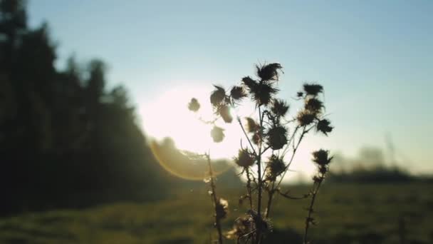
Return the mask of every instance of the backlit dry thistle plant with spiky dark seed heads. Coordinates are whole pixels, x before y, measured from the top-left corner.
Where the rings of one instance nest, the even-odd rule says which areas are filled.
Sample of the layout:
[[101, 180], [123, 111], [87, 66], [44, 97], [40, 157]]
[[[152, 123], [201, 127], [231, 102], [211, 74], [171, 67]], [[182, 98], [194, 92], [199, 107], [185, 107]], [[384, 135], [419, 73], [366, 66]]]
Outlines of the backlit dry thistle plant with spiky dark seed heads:
[[[224, 235], [237, 243], [264, 243], [272, 232], [271, 209], [276, 196], [290, 200], [311, 198], [306, 214], [304, 243], [308, 243], [308, 230], [315, 223], [313, 206], [320, 185], [329, 170], [332, 157], [323, 149], [313, 152], [313, 162], [318, 172], [313, 177], [313, 187], [309, 193], [293, 196], [283, 190], [281, 183], [286, 176], [299, 146], [308, 133], [328, 133], [333, 131], [328, 118], [325, 118], [325, 106], [321, 101], [323, 86], [317, 83], [304, 83], [302, 91], [296, 93], [296, 101], [303, 107], [295, 115], [289, 116], [289, 104], [277, 98], [279, 76], [282, 72], [280, 63], [268, 63], [256, 66], [256, 77], [246, 76], [241, 82], [226, 91], [222, 86], [214, 86], [210, 103], [214, 111], [210, 135], [215, 143], [224, 141], [224, 128], [216, 126], [221, 119], [224, 123], [239, 123], [244, 134], [234, 163], [239, 167], [246, 180], [246, 193], [239, 198], [239, 204], [248, 203], [248, 210], [236, 218], [234, 228]], [[234, 118], [232, 111], [242, 106], [244, 100], [254, 103], [254, 116]], [[199, 101], [192, 98], [188, 104], [190, 111], [198, 112]], [[218, 230], [218, 242], [223, 242], [220, 220], [226, 216], [228, 203], [216, 197], [214, 176], [209, 153], [207, 153], [210, 175], [210, 192], [214, 203], [215, 227]]]

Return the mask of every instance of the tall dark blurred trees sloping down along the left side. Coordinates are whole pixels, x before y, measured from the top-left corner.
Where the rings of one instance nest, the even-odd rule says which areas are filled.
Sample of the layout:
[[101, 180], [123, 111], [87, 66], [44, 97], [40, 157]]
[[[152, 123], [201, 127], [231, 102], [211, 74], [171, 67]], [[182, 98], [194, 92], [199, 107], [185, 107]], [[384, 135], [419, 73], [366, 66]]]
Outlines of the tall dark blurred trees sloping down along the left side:
[[161, 174], [127, 91], [106, 66], [54, 66], [48, 25], [28, 29], [26, 1], [0, 0], [0, 214], [145, 200]]

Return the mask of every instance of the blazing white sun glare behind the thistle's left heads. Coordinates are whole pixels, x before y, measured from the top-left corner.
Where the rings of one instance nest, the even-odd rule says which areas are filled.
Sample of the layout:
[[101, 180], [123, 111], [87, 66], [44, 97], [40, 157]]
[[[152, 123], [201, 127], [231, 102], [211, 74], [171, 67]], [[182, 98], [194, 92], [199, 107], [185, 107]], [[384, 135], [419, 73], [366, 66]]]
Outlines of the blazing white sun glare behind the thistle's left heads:
[[[197, 98], [200, 110], [188, 110], [191, 98]], [[205, 88], [173, 88], [151, 103], [142, 106], [142, 125], [145, 133], [162, 140], [172, 138], [177, 148], [194, 153], [207, 153], [211, 158], [233, 158], [239, 148], [242, 134], [236, 121], [227, 124], [216, 121], [224, 128], [226, 137], [221, 143], [214, 143], [210, 136], [212, 125], [204, 120], [212, 120], [214, 114], [209, 103], [209, 91]], [[237, 126], [237, 127], [236, 127]]]

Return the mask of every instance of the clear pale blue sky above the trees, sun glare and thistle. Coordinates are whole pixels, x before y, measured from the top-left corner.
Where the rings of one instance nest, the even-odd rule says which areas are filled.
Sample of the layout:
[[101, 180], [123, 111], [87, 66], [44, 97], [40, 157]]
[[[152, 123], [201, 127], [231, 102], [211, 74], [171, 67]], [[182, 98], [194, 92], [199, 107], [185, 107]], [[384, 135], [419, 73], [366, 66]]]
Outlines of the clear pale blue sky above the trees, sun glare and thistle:
[[[283, 65], [281, 98], [303, 82], [325, 88], [335, 130], [310, 148], [356, 156], [385, 151], [433, 172], [433, 1], [30, 0], [31, 26], [48, 21], [57, 66], [68, 56], [108, 63], [146, 130], [146, 109], [167, 89], [229, 87], [254, 64]], [[183, 90], [182, 90], [183, 89]], [[295, 103], [293, 101], [293, 103]], [[403, 160], [404, 159], [404, 160]]]

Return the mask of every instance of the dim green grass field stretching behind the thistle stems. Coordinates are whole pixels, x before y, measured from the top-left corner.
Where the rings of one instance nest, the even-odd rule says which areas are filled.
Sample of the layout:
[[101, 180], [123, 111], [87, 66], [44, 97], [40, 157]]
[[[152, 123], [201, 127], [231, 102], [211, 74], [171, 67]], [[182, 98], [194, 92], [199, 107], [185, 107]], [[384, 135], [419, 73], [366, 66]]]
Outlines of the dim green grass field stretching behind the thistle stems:
[[[293, 195], [307, 189], [292, 188]], [[236, 197], [242, 190], [218, 190], [231, 204], [223, 223], [229, 230], [234, 218], [244, 213]], [[306, 205], [305, 200], [277, 198], [268, 243], [300, 243]], [[400, 238], [406, 243], [433, 243], [431, 184], [325, 184], [315, 210], [313, 243], [400, 243]], [[215, 237], [204, 184], [155, 203], [23, 213], [0, 220], [0, 243], [210, 243]]]

